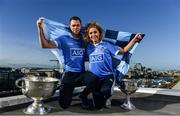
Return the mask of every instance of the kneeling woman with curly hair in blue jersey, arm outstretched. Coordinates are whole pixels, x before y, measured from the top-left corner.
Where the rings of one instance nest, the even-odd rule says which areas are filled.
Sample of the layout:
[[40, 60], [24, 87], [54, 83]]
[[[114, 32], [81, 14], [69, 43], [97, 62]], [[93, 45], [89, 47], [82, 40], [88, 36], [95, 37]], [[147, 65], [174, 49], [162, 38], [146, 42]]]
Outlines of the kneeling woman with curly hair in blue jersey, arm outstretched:
[[127, 52], [138, 39], [140, 33], [124, 48], [115, 46], [103, 41], [103, 30], [96, 22], [88, 23], [85, 30], [85, 40], [87, 45], [87, 56], [89, 58], [89, 71], [96, 80], [95, 91], [93, 92], [94, 104], [97, 109], [105, 106], [106, 100], [111, 96], [111, 88], [114, 82], [112, 56]]

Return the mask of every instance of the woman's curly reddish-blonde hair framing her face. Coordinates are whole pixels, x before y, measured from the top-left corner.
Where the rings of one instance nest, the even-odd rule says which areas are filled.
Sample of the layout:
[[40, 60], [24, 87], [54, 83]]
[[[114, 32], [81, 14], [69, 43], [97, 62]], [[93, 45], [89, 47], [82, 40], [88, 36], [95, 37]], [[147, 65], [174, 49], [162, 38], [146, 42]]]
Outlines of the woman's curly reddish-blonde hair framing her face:
[[88, 24], [86, 25], [86, 27], [85, 27], [85, 33], [84, 33], [84, 40], [85, 40], [86, 42], [90, 42], [90, 41], [91, 41], [90, 38], [89, 38], [89, 30], [90, 30], [91, 28], [96, 28], [96, 29], [99, 31], [99, 33], [100, 33], [99, 39], [100, 39], [100, 41], [101, 41], [102, 38], [103, 38], [103, 29], [101, 28], [101, 26], [100, 26], [97, 22], [88, 23]]

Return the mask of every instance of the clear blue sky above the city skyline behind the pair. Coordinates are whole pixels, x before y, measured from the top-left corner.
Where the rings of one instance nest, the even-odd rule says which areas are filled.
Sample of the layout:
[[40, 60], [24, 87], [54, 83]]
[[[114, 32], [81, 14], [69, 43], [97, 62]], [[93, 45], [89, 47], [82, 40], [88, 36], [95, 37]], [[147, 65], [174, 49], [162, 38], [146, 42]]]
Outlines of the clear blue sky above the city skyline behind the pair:
[[97, 21], [104, 29], [146, 34], [131, 63], [153, 70], [180, 70], [179, 0], [0, 0], [0, 65], [50, 64], [40, 48], [38, 17], [68, 24]]

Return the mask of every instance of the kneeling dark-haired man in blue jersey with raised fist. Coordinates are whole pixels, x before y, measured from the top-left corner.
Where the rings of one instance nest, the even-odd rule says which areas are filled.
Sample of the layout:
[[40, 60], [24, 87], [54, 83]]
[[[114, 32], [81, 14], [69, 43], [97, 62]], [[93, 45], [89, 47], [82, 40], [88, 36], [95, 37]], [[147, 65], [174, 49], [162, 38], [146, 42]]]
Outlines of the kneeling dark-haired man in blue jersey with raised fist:
[[69, 30], [72, 36], [64, 35], [49, 40], [43, 32], [43, 18], [37, 21], [39, 42], [42, 48], [61, 49], [64, 56], [64, 74], [61, 81], [59, 104], [63, 109], [70, 106], [72, 93], [83, 81], [84, 72], [84, 42], [81, 35], [81, 19], [73, 16], [69, 20]]

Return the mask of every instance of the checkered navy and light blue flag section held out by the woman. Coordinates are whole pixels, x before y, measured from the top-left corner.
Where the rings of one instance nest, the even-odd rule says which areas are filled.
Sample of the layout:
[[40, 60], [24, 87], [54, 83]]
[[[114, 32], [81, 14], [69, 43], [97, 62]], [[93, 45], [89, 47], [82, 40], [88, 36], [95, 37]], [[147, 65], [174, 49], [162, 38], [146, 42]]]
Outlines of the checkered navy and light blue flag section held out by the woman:
[[[114, 31], [114, 30], [106, 30], [105, 31], [105, 40], [115, 45], [123, 48], [125, 47], [131, 39], [135, 37], [136, 34], [130, 32], [123, 32], [123, 31]], [[141, 35], [142, 38], [145, 36], [144, 34]], [[137, 41], [131, 49], [124, 53], [123, 55], [116, 55], [113, 59], [113, 67], [115, 67], [115, 77], [116, 82], [119, 83], [121, 79], [128, 73], [129, 70], [129, 63], [134, 50], [137, 48], [138, 44], [141, 40]]]

